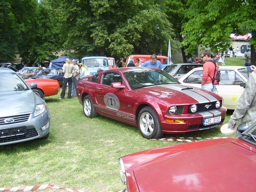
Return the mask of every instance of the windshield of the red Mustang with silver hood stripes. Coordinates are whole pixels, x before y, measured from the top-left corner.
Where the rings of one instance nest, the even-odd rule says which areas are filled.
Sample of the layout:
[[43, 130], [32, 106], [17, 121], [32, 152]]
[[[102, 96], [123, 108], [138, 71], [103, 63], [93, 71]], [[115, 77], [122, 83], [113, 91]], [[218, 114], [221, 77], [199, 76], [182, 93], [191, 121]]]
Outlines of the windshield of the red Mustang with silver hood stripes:
[[132, 89], [150, 87], [159, 84], [179, 83], [163, 70], [134, 70], [125, 72], [124, 75]]

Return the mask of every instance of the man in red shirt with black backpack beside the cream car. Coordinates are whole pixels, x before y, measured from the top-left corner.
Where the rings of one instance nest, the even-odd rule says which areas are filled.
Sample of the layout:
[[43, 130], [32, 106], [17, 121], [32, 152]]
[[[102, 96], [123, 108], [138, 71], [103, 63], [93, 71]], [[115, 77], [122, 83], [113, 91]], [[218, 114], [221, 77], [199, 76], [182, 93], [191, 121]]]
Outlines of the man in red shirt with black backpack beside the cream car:
[[[211, 58], [211, 52], [207, 50], [201, 52], [201, 58], [204, 61], [202, 89], [205, 89], [210, 92], [215, 92], [217, 81], [215, 80], [214, 83], [212, 83], [212, 78], [216, 76], [218, 72], [218, 64]], [[213, 62], [216, 63], [216, 67]]]

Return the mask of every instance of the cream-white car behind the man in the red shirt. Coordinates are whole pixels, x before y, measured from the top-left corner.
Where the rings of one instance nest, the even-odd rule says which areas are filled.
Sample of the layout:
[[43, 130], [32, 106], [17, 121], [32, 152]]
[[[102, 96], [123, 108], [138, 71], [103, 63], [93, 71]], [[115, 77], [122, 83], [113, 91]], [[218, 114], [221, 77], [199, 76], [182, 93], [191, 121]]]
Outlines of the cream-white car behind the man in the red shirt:
[[[224, 98], [223, 105], [227, 109], [235, 109], [244, 87], [240, 83], [247, 83], [249, 73], [243, 66], [219, 66], [221, 70], [221, 81], [216, 86], [216, 93]], [[179, 82], [201, 87], [203, 67], [194, 68], [185, 74]]]

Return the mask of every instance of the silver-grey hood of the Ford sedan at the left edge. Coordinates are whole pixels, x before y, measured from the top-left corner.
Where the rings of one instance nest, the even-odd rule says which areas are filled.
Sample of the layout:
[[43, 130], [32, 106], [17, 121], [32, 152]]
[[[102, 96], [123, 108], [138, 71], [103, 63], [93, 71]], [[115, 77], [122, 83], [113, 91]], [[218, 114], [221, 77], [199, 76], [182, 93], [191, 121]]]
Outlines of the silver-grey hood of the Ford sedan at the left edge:
[[0, 109], [4, 109], [0, 110], [0, 117], [16, 115], [18, 113], [34, 113], [36, 96], [31, 90], [0, 92], [0, 97]]

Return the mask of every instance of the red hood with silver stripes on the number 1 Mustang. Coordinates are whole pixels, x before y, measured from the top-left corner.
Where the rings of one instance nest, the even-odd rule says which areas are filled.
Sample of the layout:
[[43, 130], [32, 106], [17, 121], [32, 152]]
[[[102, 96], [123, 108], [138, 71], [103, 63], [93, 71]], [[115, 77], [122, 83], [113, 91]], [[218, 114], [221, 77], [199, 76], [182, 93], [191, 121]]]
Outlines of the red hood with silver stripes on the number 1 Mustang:
[[145, 94], [147, 96], [154, 96], [160, 100], [170, 102], [173, 98], [175, 104], [188, 103], [208, 103], [216, 100], [221, 100], [222, 97], [214, 94], [213, 92], [208, 92], [206, 90], [189, 87], [182, 84], [165, 84], [157, 85], [151, 87], [144, 87], [137, 89], [140, 94]]

